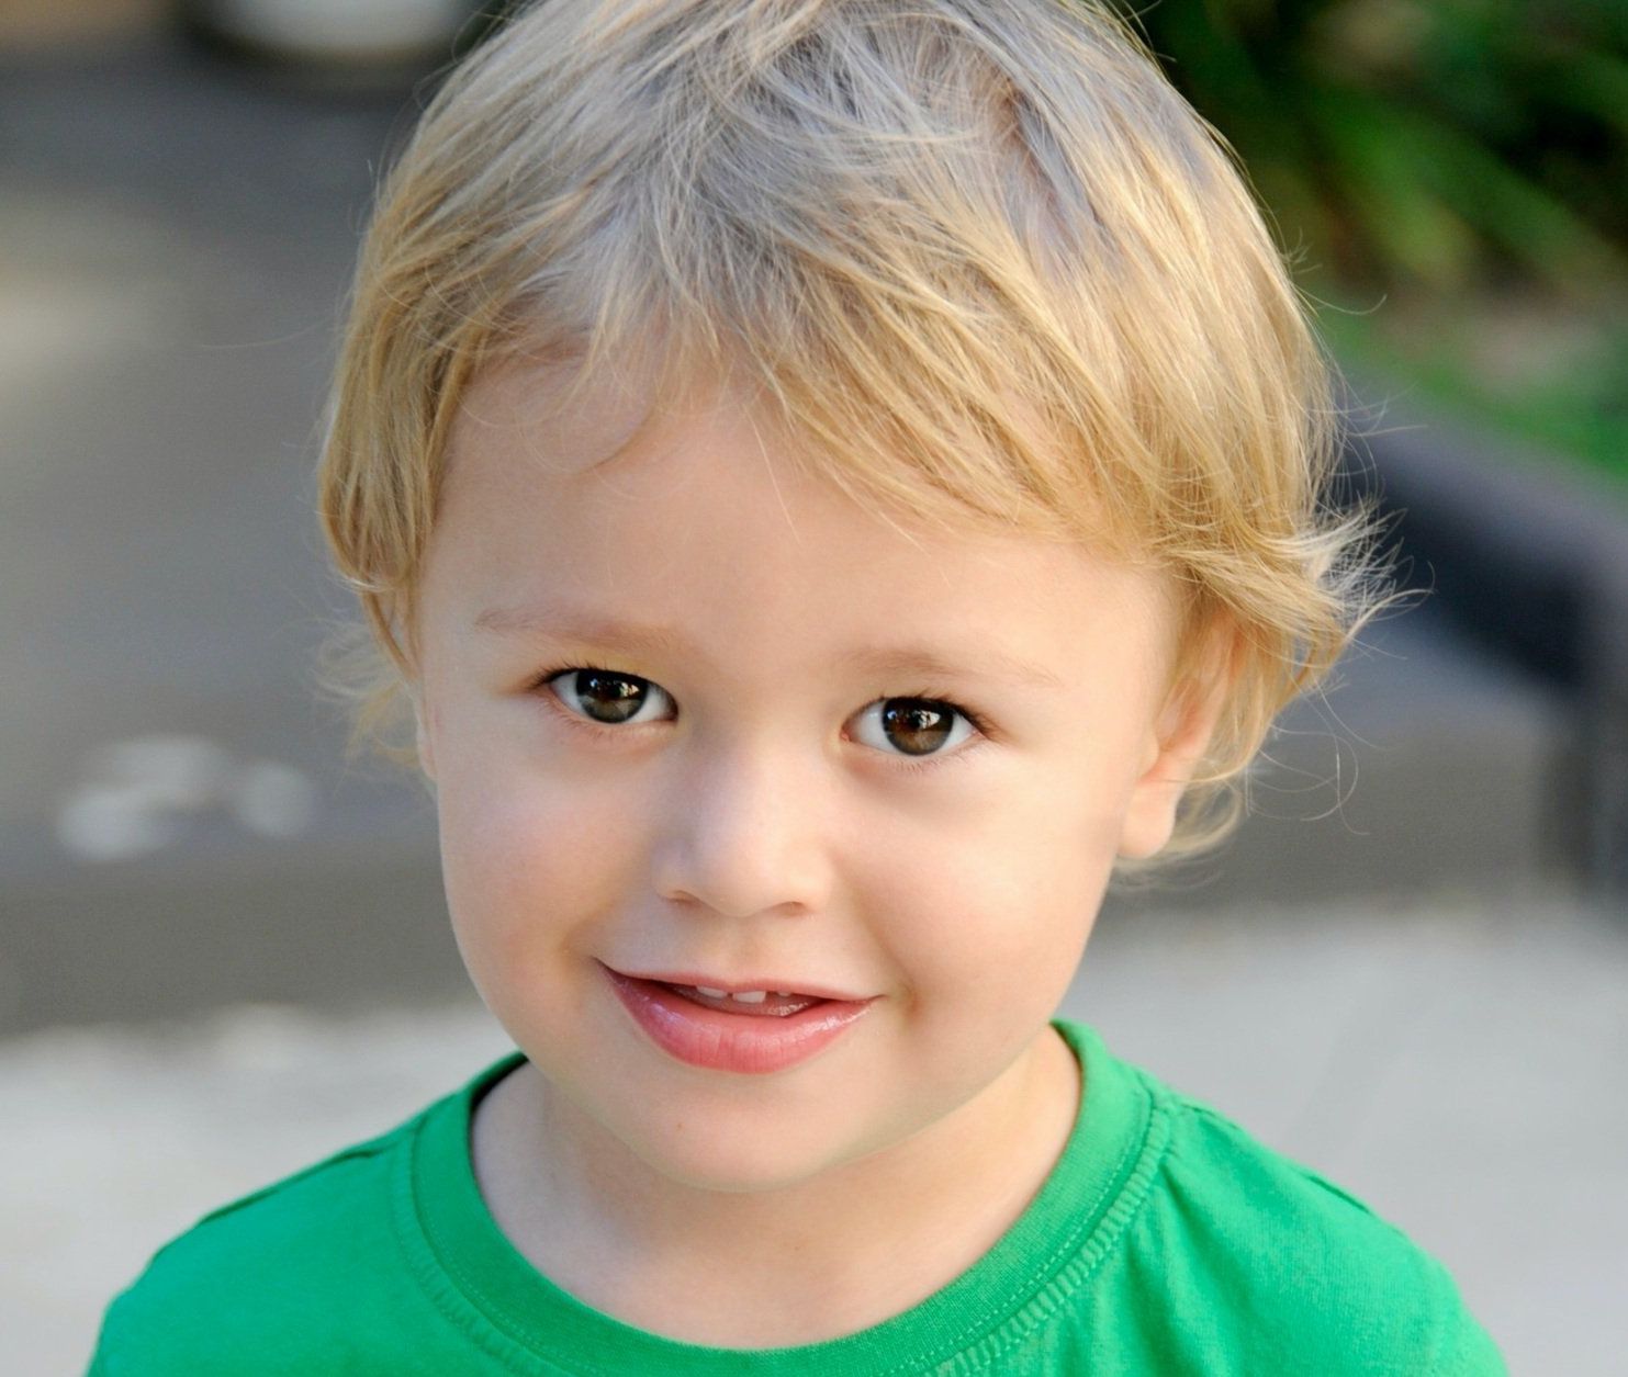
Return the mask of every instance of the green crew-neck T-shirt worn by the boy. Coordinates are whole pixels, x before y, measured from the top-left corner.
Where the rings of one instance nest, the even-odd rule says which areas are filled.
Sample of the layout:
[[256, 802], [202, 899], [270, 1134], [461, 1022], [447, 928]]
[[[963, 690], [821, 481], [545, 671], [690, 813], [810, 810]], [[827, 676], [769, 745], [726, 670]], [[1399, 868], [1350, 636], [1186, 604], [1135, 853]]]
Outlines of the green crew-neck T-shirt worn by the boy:
[[163, 1247], [107, 1309], [91, 1374], [1504, 1374], [1400, 1231], [1092, 1029], [1058, 1029], [1086, 1094], [1039, 1195], [961, 1278], [847, 1338], [674, 1343], [536, 1271], [469, 1159], [470, 1110], [511, 1053]]

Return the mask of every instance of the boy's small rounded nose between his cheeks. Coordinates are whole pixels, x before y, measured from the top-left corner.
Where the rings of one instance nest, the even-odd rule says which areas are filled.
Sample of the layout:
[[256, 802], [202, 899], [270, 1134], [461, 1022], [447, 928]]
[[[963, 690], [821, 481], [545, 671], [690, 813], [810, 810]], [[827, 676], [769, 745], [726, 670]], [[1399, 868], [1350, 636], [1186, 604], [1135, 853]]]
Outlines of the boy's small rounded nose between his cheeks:
[[731, 918], [821, 910], [832, 861], [816, 768], [751, 744], [697, 755], [667, 798], [656, 892]]

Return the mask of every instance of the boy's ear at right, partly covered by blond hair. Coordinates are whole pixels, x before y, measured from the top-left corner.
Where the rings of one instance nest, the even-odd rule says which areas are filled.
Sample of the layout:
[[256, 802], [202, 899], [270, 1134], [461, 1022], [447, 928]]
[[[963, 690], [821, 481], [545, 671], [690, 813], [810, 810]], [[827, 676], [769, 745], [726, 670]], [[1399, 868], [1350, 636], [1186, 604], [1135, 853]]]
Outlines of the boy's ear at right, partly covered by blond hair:
[[1146, 859], [1164, 850], [1175, 830], [1175, 806], [1214, 736], [1236, 679], [1236, 638], [1214, 630], [1206, 653], [1177, 684], [1148, 729], [1141, 775], [1131, 788], [1120, 827], [1118, 855]]

